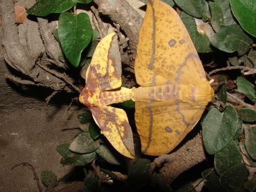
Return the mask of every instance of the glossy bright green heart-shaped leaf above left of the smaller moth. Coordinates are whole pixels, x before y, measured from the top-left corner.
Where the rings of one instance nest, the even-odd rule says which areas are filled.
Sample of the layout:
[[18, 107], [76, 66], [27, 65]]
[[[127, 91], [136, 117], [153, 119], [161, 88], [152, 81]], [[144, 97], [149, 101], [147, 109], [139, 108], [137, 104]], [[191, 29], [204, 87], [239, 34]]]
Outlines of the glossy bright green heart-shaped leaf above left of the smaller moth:
[[70, 63], [78, 67], [81, 53], [92, 39], [90, 18], [86, 13], [74, 15], [61, 13], [58, 34], [64, 54]]

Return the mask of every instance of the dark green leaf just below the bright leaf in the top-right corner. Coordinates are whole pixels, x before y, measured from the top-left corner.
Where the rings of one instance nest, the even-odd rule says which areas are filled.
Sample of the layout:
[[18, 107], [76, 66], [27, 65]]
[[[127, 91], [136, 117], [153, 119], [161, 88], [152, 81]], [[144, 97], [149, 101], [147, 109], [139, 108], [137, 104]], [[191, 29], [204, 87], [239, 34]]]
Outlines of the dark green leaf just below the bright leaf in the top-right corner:
[[227, 53], [238, 52], [239, 55], [248, 51], [253, 43], [239, 25], [222, 27], [210, 38], [211, 44], [221, 51]]

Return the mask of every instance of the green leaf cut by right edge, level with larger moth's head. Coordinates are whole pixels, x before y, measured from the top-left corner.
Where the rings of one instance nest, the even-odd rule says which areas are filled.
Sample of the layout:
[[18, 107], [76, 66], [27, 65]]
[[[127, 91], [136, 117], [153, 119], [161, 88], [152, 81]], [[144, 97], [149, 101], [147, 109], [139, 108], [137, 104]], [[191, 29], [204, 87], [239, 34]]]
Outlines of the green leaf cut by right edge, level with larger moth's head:
[[246, 95], [252, 102], [256, 102], [256, 90], [254, 85], [243, 77], [237, 77], [237, 90]]

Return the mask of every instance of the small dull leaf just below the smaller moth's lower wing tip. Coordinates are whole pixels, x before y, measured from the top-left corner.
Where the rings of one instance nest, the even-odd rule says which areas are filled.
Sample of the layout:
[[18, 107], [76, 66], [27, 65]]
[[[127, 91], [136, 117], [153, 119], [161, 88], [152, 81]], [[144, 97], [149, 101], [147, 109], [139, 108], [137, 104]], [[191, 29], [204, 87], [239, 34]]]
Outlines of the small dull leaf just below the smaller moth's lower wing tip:
[[[116, 158], [117, 153], [116, 151], [111, 151], [107, 146], [100, 145], [99, 149], [95, 151], [99, 156], [105, 159], [108, 163], [114, 165], [121, 165], [121, 163]], [[119, 154], [118, 154], [119, 155]]]

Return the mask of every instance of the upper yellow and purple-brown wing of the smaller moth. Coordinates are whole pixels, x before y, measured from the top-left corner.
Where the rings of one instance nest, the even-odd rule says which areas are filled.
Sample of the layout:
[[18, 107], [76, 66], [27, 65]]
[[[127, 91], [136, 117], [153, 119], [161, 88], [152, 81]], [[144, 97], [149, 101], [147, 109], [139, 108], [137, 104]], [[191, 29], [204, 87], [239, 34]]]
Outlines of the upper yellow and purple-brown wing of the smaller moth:
[[97, 45], [86, 71], [86, 85], [91, 93], [121, 87], [121, 57], [117, 35], [110, 33]]

